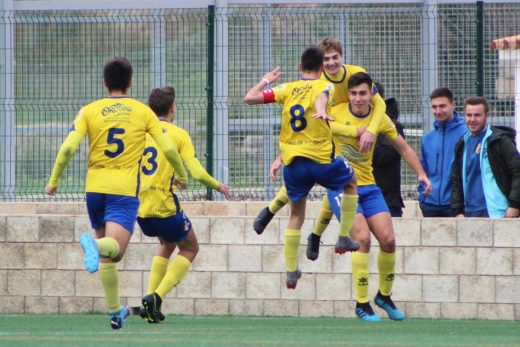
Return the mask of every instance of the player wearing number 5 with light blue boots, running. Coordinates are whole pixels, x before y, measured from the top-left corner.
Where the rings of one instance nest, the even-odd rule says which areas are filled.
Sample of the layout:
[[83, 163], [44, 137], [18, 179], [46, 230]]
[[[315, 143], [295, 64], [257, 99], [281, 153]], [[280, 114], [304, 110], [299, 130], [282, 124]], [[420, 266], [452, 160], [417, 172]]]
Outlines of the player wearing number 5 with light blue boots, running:
[[[85, 136], [89, 139], [85, 183], [87, 210], [97, 240], [81, 235], [83, 262], [103, 284], [112, 329], [123, 327], [128, 307], [121, 306], [116, 263], [124, 254], [137, 218], [139, 176], [145, 135], [150, 134], [175, 168], [174, 184], [185, 188], [187, 175], [177, 148], [163, 134], [159, 120], [145, 104], [127, 96], [132, 83], [132, 65], [114, 58], [103, 69], [108, 96], [79, 111], [69, 135], [61, 145], [45, 192], [57, 192], [60, 177]], [[100, 260], [101, 258], [101, 260]]]

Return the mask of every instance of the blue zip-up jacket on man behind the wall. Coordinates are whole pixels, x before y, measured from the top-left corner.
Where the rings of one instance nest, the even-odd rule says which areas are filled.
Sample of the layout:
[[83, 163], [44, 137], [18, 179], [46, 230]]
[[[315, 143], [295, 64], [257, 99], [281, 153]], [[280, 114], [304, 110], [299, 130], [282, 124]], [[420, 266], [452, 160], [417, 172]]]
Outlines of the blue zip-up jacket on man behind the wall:
[[432, 184], [432, 191], [424, 196], [424, 185], [419, 184], [419, 201], [432, 205], [450, 205], [451, 167], [455, 158], [455, 145], [468, 131], [464, 118], [455, 111], [453, 118], [433, 122], [434, 130], [422, 138], [421, 164]]

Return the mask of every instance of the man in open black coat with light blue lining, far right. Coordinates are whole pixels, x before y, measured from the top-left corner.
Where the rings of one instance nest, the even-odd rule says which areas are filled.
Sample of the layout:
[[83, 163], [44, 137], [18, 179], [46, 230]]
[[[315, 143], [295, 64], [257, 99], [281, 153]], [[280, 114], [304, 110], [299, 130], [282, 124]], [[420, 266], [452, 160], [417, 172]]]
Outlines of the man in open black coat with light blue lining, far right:
[[483, 97], [464, 103], [469, 131], [455, 146], [451, 208], [457, 217], [517, 218], [520, 212], [520, 155], [515, 131], [491, 127]]

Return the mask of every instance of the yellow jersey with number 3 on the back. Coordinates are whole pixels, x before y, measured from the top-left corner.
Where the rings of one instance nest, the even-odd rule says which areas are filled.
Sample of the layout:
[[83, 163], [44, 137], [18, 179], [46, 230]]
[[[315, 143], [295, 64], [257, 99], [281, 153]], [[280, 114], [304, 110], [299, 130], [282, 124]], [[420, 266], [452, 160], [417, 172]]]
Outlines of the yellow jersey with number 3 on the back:
[[[195, 148], [186, 130], [166, 121], [161, 121], [160, 124], [170, 141], [177, 146], [183, 162], [195, 158]], [[173, 185], [175, 170], [168, 163], [166, 156], [161, 153], [154, 139], [148, 135], [141, 173], [139, 190], [141, 205], [137, 215], [141, 218], [164, 218], [179, 212], [180, 205], [175, 195], [177, 187]]]

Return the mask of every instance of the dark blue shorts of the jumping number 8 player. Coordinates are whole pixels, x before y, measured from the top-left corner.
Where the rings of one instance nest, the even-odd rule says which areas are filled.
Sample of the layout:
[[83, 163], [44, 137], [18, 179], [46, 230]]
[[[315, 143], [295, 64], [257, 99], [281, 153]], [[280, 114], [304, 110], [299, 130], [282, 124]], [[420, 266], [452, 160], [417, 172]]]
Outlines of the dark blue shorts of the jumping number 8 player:
[[307, 197], [314, 184], [332, 190], [341, 190], [354, 176], [354, 171], [341, 158], [335, 158], [330, 164], [319, 164], [310, 159], [297, 157], [283, 168], [283, 179], [287, 195], [298, 202]]

